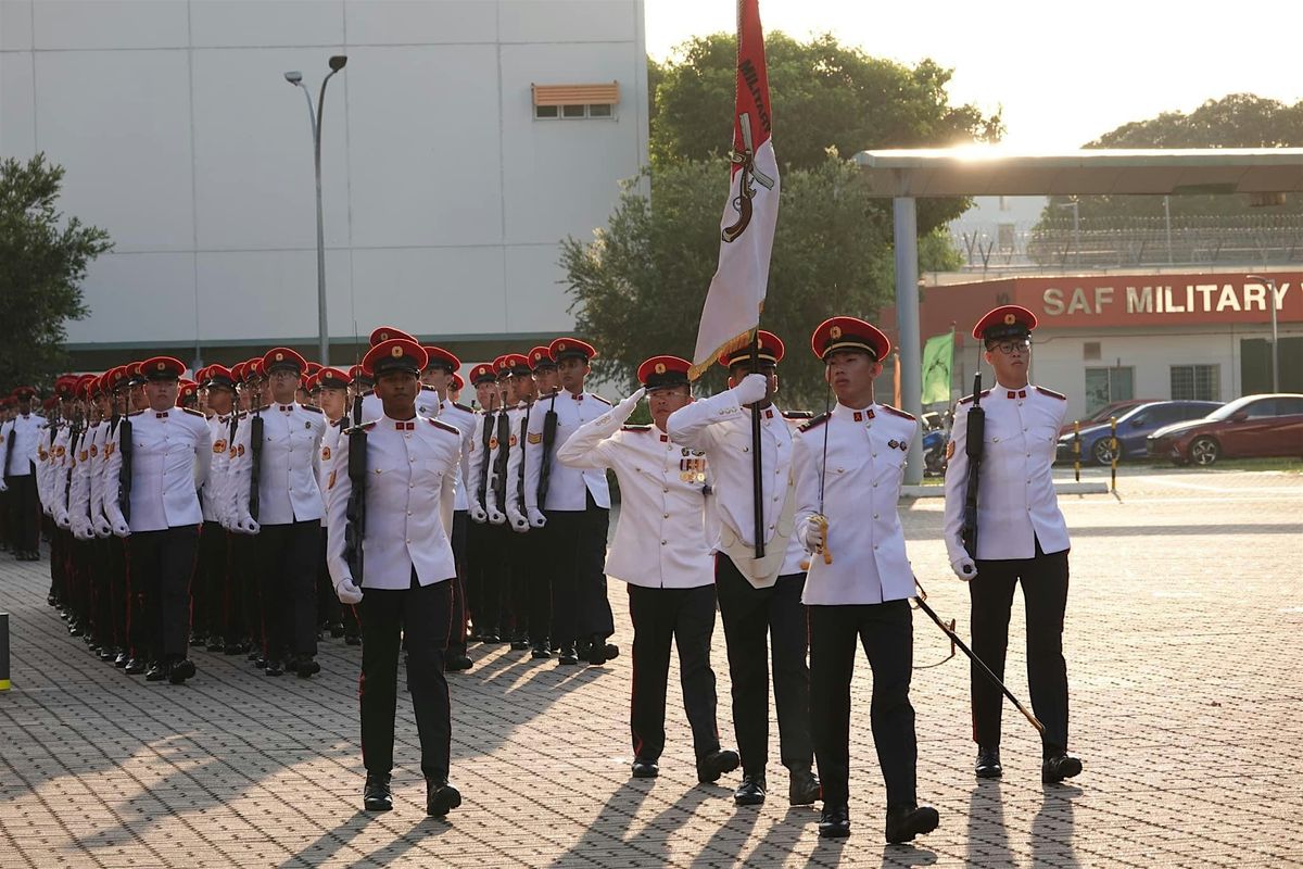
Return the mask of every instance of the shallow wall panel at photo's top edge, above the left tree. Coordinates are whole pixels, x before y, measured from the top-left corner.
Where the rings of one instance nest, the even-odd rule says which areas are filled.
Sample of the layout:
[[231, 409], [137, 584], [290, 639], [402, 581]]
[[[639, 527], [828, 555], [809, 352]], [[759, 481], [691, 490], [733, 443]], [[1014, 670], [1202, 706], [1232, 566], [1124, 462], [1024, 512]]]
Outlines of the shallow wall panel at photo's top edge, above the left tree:
[[189, 9], [181, 0], [39, 0], [36, 48], [184, 48]]

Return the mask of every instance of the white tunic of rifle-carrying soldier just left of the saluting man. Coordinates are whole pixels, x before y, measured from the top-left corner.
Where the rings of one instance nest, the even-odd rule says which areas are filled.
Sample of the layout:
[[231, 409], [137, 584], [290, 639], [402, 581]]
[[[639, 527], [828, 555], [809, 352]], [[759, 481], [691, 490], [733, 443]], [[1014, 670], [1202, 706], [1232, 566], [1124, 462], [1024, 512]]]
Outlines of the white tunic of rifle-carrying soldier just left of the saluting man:
[[[538, 479], [543, 466], [543, 420], [549, 410], [556, 410], [556, 442], [549, 456], [551, 469], [547, 473], [547, 503], [538, 503]], [[610, 412], [611, 403], [592, 392], [573, 395], [562, 390], [552, 396], [539, 399], [529, 413], [528, 434], [525, 436], [525, 507], [528, 509], [581, 511], [588, 508], [588, 495], [598, 507], [611, 506], [611, 492], [606, 485], [606, 473], [595, 469], [581, 470], [567, 468], [556, 461], [556, 449], [575, 434], [585, 422], [597, 420]]]

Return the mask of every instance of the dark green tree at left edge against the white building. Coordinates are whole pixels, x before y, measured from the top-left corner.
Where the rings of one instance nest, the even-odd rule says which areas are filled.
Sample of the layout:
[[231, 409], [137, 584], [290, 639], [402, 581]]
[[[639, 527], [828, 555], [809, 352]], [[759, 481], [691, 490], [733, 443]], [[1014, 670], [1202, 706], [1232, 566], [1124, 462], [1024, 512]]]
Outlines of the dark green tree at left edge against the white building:
[[47, 383], [68, 362], [64, 322], [86, 317], [86, 267], [108, 233], [56, 210], [64, 169], [36, 154], [0, 163], [0, 386]]

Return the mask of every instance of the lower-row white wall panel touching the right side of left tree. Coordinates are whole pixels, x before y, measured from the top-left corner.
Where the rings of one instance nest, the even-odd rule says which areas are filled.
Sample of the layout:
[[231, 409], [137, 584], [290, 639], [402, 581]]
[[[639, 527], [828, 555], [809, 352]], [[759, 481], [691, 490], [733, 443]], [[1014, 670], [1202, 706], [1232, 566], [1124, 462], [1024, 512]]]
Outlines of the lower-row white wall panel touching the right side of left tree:
[[106, 254], [82, 285], [90, 317], [68, 323], [68, 341], [179, 341], [194, 337], [194, 254]]

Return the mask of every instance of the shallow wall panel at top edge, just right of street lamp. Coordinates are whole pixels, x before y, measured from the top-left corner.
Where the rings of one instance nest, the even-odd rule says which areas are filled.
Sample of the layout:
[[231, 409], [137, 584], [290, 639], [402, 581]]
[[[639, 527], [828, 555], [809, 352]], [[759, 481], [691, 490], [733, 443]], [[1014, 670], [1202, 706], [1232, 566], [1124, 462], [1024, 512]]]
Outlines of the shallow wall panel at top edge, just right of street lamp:
[[498, 39], [498, 9], [483, 0], [348, 0], [353, 46], [438, 44]]

